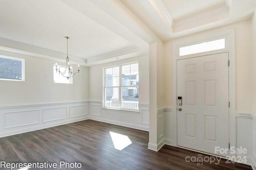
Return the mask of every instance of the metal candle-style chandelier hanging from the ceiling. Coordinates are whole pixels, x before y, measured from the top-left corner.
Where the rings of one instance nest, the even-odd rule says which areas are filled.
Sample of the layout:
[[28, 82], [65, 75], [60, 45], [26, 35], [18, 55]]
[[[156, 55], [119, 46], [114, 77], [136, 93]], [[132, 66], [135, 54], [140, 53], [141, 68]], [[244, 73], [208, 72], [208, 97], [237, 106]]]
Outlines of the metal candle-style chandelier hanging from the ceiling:
[[[66, 57], [66, 67], [65, 67], [65, 70], [63, 72], [60, 71], [60, 66], [57, 66], [57, 63], [55, 63], [56, 65], [56, 73], [59, 72], [59, 74], [61, 74], [62, 76], [66, 77], [67, 79], [69, 79], [70, 77], [73, 77], [76, 73], [79, 74], [79, 64], [78, 64], [78, 69], [77, 69], [77, 72], [73, 72], [72, 71], [72, 66], [70, 66], [70, 63], [69, 63], [69, 57], [68, 57], [68, 39], [69, 37], [68, 36], [65, 36], [65, 38], [67, 39], [67, 57]], [[58, 67], [58, 68], [57, 68]]]

